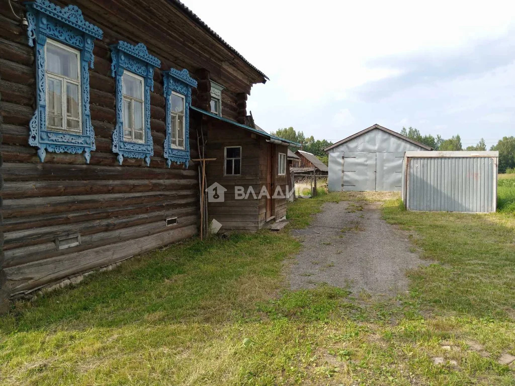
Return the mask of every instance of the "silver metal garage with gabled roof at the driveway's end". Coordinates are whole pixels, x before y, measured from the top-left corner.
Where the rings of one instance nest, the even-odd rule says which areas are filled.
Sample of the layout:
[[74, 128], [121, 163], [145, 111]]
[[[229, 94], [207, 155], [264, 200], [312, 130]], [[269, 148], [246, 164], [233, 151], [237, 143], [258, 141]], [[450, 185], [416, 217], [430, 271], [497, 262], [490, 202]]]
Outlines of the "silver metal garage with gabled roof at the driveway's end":
[[324, 149], [329, 155], [329, 190], [401, 190], [405, 151], [432, 148], [379, 125]]

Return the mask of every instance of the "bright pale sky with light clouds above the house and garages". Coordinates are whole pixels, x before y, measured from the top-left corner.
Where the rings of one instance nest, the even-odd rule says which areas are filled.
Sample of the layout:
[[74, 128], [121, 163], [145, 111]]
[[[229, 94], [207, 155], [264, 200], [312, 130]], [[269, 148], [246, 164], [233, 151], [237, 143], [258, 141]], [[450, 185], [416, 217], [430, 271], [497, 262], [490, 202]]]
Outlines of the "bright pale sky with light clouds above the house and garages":
[[268, 132], [515, 135], [513, 1], [183, 2], [270, 78], [247, 101]]

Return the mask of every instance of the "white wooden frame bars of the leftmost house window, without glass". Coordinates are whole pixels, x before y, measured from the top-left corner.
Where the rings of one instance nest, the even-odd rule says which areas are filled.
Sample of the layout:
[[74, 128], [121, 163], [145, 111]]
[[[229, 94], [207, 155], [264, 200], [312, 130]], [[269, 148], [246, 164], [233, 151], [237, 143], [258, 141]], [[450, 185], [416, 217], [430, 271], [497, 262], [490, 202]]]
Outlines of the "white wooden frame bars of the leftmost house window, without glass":
[[[61, 74], [55, 74], [53, 72], [50, 72], [46, 69], [46, 61], [48, 61], [48, 55], [46, 54], [46, 48], [48, 47], [48, 44], [53, 44], [59, 48], [62, 48], [68, 52], [72, 52], [72, 54], [75, 54], [77, 56], [77, 79], [68, 78], [67, 76], [61, 75]], [[78, 49], [75, 49], [73, 47], [67, 46], [65, 44], [59, 43], [53, 39], [46, 39], [45, 44], [45, 84], [46, 84], [46, 90], [45, 90], [45, 101], [46, 101], [46, 129], [51, 131], [59, 131], [59, 132], [65, 132], [65, 133], [82, 133], [82, 84], [81, 84], [81, 73], [80, 73], [80, 66], [81, 66], [81, 60], [80, 60], [80, 51]], [[48, 78], [56, 79], [61, 81], [61, 112], [62, 112], [62, 126], [55, 127], [55, 126], [48, 126]], [[66, 82], [76, 84], [79, 87], [78, 90], [78, 110], [79, 110], [79, 127], [78, 129], [68, 129], [68, 117], [66, 115]], [[70, 119], [76, 119], [76, 118], [70, 118]]]

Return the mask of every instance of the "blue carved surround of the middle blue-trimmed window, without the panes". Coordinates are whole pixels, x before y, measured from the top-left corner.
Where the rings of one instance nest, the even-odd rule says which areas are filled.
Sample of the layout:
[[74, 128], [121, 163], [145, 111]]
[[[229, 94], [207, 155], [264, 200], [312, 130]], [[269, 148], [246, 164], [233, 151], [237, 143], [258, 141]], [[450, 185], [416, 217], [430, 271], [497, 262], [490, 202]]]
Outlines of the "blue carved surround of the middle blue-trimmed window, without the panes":
[[[144, 158], [147, 166], [150, 166], [150, 156], [154, 155], [154, 143], [150, 133], [150, 90], [154, 91], [154, 68], [161, 67], [161, 61], [150, 55], [143, 43], [134, 46], [119, 41], [111, 46], [111, 56], [111, 76], [116, 79], [116, 127], [113, 132], [112, 150], [114, 153], [118, 153], [117, 160], [120, 165], [122, 165], [125, 156], [128, 158]], [[144, 143], [135, 143], [124, 139], [122, 77], [125, 70], [144, 79]]]

